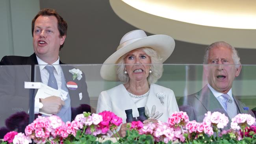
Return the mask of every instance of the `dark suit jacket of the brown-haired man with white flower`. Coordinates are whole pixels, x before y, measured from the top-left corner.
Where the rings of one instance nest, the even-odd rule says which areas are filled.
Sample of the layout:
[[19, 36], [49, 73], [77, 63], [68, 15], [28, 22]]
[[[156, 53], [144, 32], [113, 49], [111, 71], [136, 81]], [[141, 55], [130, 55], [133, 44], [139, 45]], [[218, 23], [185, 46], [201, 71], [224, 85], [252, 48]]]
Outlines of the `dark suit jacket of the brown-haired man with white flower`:
[[[60, 61], [60, 64], [63, 63]], [[4, 56], [0, 61], [0, 65], [31, 65], [31, 71], [28, 69], [28, 66], [8, 67], [4, 68], [3, 70], [1, 69], [2, 72], [0, 71], [0, 98], [5, 101], [16, 101], [15, 104], [20, 103], [20, 107], [24, 106], [24, 103], [26, 105], [28, 103], [29, 92], [27, 89], [24, 89], [24, 81], [30, 81], [31, 79], [31, 81], [41, 82], [39, 66], [37, 66], [36, 76], [34, 79], [34, 66], [38, 65], [36, 55], [32, 54], [29, 57]], [[61, 66], [61, 68], [63, 70], [66, 82], [73, 81], [78, 85], [76, 90], [69, 89], [71, 107], [79, 107], [81, 104], [89, 105], [90, 100], [87, 92], [85, 75], [82, 74], [82, 79], [79, 81], [77, 79], [73, 80], [72, 74], [69, 72], [69, 70], [74, 67]], [[82, 100], [79, 98], [80, 92], [82, 92]], [[20, 96], [22, 96], [22, 98]], [[13, 105], [10, 106], [13, 107]], [[27, 109], [24, 109], [24, 111], [26, 110]], [[86, 107], [84, 111], [91, 111], [91, 109], [90, 107]], [[72, 118], [74, 118], [73, 115]]]

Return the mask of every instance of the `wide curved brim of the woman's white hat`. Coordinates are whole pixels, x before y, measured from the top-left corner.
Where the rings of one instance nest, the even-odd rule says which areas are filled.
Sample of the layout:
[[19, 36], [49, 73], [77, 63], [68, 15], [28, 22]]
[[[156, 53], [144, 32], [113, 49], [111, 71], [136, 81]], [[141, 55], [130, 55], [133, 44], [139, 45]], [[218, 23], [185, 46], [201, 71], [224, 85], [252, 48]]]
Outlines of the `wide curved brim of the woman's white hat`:
[[117, 60], [122, 55], [141, 47], [150, 47], [154, 49], [161, 57], [163, 63], [172, 53], [175, 47], [174, 39], [168, 35], [150, 35], [148, 37], [141, 38], [135, 42], [132, 42], [116, 52], [104, 61], [101, 69], [100, 76], [108, 81], [119, 81], [116, 71]]

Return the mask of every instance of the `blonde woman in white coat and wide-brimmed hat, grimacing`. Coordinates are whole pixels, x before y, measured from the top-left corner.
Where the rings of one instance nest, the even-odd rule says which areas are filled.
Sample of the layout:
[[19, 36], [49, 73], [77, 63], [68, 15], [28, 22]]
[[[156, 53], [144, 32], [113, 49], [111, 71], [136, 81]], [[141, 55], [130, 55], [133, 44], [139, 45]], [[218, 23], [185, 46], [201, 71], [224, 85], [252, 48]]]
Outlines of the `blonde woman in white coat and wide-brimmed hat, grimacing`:
[[162, 76], [162, 64], [172, 54], [174, 46], [173, 38], [168, 35], [147, 37], [143, 30], [130, 31], [122, 37], [117, 51], [102, 65], [100, 75], [103, 79], [124, 84], [101, 92], [96, 112], [112, 111], [121, 117], [123, 124], [119, 134], [122, 136], [126, 131], [127, 109], [132, 109], [133, 116], [137, 117], [137, 108], [147, 106], [151, 110], [155, 105], [160, 114], [155, 113], [151, 118], [163, 122], [179, 111], [173, 90], [154, 84]]

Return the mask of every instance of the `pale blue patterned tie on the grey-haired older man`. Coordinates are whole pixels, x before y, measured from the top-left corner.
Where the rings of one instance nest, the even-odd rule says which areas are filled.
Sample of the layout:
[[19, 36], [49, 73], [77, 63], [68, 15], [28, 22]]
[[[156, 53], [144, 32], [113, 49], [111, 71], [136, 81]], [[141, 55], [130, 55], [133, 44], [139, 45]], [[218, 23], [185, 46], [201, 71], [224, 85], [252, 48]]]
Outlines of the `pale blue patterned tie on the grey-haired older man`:
[[237, 114], [236, 103], [230, 98], [228, 94], [223, 94], [221, 96], [226, 99], [226, 112], [228, 113], [228, 116], [230, 117], [230, 119], [234, 118], [234, 116], [236, 116]]

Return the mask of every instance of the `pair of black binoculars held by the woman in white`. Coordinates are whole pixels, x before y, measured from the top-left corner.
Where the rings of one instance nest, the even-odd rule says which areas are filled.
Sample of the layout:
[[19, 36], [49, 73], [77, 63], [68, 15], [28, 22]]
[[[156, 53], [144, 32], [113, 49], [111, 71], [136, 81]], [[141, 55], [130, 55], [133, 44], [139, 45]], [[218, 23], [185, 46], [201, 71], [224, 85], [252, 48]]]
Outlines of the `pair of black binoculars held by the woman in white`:
[[125, 110], [125, 113], [126, 113], [126, 123], [133, 122], [133, 121], [138, 121], [138, 120], [143, 122], [144, 120], [148, 119], [146, 114], [145, 114], [145, 107], [139, 107], [138, 111], [139, 111], [139, 116], [136, 119], [136, 118], [134, 118], [132, 116], [132, 109]]

